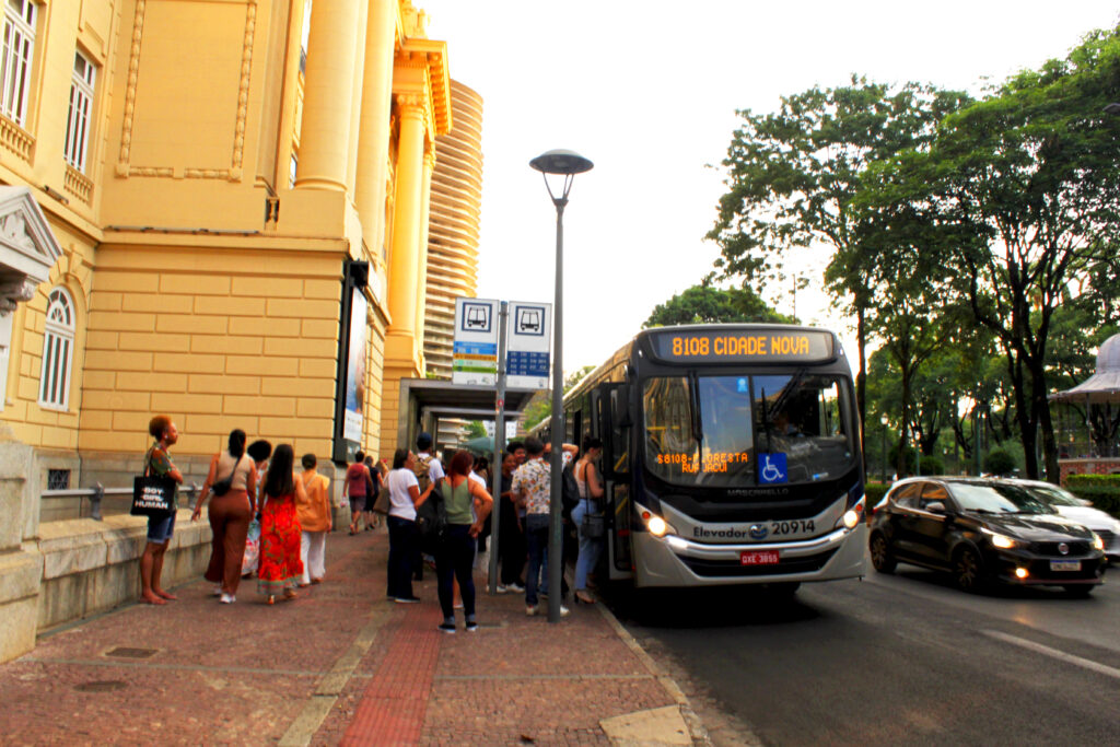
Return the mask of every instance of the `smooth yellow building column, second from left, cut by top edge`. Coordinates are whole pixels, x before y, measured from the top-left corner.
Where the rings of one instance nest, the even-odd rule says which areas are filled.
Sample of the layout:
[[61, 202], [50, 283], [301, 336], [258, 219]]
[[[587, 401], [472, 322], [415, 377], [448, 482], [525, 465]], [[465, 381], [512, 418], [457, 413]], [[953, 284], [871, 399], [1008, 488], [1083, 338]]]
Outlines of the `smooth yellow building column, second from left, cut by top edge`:
[[370, 0], [365, 30], [361, 133], [354, 202], [370, 253], [384, 259], [385, 183], [389, 171], [396, 3]]

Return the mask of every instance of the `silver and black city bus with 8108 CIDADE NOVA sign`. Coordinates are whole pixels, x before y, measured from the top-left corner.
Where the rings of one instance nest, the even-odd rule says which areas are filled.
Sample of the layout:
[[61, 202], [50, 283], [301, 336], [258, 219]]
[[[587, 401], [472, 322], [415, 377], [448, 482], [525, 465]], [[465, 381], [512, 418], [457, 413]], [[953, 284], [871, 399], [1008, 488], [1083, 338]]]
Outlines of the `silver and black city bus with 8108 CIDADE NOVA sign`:
[[833, 333], [646, 329], [563, 409], [566, 440], [604, 443], [612, 580], [793, 592], [865, 575], [859, 418]]

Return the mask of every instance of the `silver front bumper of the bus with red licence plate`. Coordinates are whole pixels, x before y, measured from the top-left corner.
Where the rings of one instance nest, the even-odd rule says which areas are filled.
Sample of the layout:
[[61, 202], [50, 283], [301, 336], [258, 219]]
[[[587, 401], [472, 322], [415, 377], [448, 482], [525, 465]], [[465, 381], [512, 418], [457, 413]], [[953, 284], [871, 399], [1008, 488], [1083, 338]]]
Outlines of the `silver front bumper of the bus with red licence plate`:
[[[830, 581], [867, 573], [867, 526], [837, 529], [811, 540], [750, 544], [717, 544], [675, 535], [633, 535], [637, 559], [635, 581], [650, 587], [727, 586]], [[777, 552], [777, 562], [750, 562], [758, 553]], [[772, 557], [772, 555], [771, 555]]]

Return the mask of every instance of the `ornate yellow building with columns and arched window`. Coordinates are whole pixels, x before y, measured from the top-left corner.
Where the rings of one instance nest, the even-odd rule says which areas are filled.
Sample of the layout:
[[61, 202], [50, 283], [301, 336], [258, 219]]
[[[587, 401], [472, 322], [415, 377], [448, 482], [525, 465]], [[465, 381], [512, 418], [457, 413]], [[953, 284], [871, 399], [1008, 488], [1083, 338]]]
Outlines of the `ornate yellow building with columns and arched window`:
[[[430, 184], [452, 125], [423, 12], [3, 9], [0, 553], [18, 568], [0, 576], [22, 572], [48, 476], [128, 484], [157, 412], [199, 482], [233, 428], [320, 464], [391, 450], [398, 382], [424, 368]], [[19, 599], [0, 596], [0, 627]]]

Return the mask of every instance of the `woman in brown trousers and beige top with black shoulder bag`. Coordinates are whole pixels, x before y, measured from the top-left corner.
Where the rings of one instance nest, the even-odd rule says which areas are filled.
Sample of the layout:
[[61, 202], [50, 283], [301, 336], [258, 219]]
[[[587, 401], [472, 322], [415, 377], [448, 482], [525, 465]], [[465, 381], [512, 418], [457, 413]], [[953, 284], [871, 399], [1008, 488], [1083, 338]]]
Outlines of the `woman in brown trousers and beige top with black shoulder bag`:
[[198, 521], [203, 503], [213, 496], [208, 519], [214, 538], [205, 578], [217, 583], [214, 596], [223, 605], [236, 600], [249, 523], [253, 519], [253, 501], [249, 496], [255, 491], [256, 469], [245, 455], [245, 431], [239, 428], [230, 431], [226, 450], [211, 459], [209, 473], [190, 516], [192, 521]]

